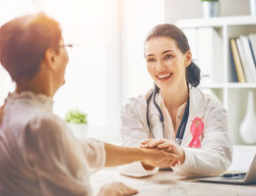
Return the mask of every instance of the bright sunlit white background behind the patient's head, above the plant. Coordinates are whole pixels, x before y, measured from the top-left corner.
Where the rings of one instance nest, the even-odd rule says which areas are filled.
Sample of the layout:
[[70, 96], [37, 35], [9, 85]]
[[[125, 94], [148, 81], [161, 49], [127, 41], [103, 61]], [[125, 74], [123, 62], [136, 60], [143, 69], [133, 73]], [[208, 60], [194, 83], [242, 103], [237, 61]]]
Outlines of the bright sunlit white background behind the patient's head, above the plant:
[[[117, 124], [120, 103], [119, 0], [0, 0], [0, 25], [43, 11], [62, 26], [69, 51], [66, 84], [54, 96], [60, 117], [70, 109], [88, 114], [94, 126]], [[0, 106], [15, 88], [0, 66]]]

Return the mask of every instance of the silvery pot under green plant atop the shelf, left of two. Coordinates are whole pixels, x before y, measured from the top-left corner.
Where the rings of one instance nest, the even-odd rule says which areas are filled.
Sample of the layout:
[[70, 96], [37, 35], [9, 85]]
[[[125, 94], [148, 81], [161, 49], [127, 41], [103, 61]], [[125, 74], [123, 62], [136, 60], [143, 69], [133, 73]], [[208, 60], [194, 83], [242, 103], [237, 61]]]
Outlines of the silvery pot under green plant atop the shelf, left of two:
[[203, 1], [203, 17], [212, 18], [220, 16], [220, 2], [219, 1]]

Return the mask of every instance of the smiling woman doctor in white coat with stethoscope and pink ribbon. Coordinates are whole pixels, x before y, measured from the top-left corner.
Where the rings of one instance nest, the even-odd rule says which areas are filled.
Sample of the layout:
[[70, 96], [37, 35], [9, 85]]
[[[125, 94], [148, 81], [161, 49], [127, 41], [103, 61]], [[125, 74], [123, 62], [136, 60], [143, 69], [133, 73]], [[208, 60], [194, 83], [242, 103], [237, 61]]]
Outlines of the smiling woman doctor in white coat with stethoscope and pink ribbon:
[[[145, 58], [155, 87], [124, 105], [120, 127], [124, 145], [176, 153], [179, 161], [171, 170], [180, 175], [226, 171], [232, 156], [226, 111], [219, 100], [197, 87], [200, 70], [192, 62], [184, 33], [175, 25], [155, 26], [145, 41]], [[119, 171], [145, 176], [158, 170], [136, 162]]]

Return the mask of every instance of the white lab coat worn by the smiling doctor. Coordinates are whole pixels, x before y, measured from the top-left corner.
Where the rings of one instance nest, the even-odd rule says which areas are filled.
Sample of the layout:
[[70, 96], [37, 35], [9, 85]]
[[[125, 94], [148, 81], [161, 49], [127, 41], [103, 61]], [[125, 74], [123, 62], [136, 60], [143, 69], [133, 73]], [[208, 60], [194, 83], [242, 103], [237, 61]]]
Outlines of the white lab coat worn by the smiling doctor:
[[[185, 152], [185, 162], [182, 166], [172, 168], [174, 172], [185, 176], [218, 175], [227, 170], [231, 164], [232, 145], [227, 132], [226, 110], [219, 100], [204, 94], [197, 87], [189, 87], [190, 105], [189, 117], [186, 125], [181, 147]], [[140, 147], [141, 142], [153, 138], [163, 138], [159, 112], [151, 100], [149, 117], [152, 132], [147, 123], [147, 94], [131, 98], [124, 105], [121, 112], [120, 133], [124, 146]], [[178, 96], [178, 95], [177, 95]], [[171, 118], [164, 106], [160, 93], [156, 100], [164, 117], [164, 135], [166, 139], [174, 142], [174, 130], [170, 128]], [[193, 136], [190, 131], [191, 123], [200, 118], [204, 123], [204, 132], [200, 137], [201, 147], [190, 148], [189, 143]], [[179, 124], [177, 124], [179, 125]], [[119, 172], [131, 176], [146, 176], [158, 172], [146, 171], [141, 162], [136, 162], [119, 168]]]

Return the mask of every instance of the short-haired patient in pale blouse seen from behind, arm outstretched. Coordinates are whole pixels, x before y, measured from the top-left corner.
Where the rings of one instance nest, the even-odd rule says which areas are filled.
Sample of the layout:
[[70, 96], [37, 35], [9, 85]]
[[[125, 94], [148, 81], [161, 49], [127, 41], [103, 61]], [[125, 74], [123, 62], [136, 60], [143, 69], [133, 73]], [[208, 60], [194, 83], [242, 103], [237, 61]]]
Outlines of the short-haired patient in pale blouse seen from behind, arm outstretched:
[[[101, 167], [142, 161], [171, 167], [175, 154], [79, 141], [52, 113], [52, 97], [65, 83], [68, 63], [61, 27], [43, 13], [16, 18], [0, 28], [0, 63], [16, 82], [0, 109], [0, 195], [92, 195], [89, 175]], [[116, 156], [118, 155], [118, 156]], [[132, 195], [123, 183], [98, 195]]]

